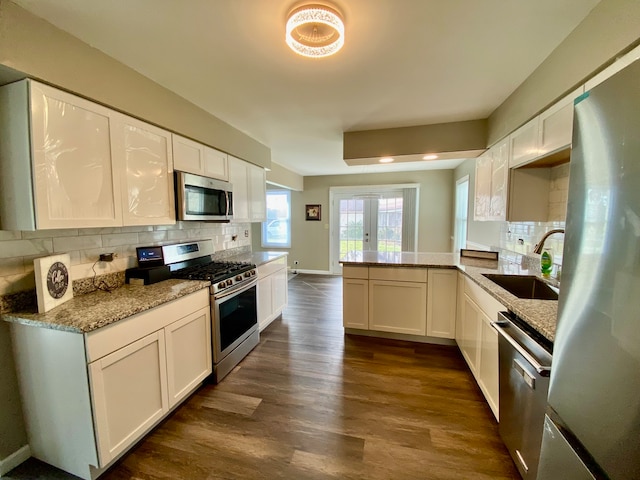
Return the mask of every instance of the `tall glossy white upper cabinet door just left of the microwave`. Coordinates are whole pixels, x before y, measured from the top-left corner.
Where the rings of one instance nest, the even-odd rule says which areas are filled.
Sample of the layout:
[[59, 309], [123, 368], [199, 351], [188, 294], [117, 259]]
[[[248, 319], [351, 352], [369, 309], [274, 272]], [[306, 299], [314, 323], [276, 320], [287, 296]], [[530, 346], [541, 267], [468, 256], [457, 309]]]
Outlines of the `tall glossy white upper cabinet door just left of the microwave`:
[[112, 117], [124, 225], [176, 223], [171, 133], [125, 115]]

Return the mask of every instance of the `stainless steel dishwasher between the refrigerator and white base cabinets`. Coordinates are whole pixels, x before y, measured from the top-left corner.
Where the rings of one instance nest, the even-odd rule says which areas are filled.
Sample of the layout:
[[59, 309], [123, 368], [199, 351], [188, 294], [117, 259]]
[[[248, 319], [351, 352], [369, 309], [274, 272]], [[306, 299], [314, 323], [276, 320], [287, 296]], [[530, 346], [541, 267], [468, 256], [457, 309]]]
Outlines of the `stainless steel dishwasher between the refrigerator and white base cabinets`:
[[500, 334], [498, 429], [522, 478], [535, 480], [551, 372], [550, 343], [545, 349], [511, 312], [498, 313], [492, 326]]

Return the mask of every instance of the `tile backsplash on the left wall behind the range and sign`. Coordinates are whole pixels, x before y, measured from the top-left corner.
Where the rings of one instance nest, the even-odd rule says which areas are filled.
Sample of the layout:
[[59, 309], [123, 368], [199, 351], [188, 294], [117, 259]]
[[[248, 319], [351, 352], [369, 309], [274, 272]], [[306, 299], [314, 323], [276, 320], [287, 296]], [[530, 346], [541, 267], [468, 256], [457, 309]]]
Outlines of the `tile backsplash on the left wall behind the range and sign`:
[[[251, 224], [177, 222], [155, 227], [0, 230], [0, 295], [35, 288], [33, 259], [56, 253], [71, 256], [71, 278], [79, 280], [136, 266], [136, 247], [212, 239], [216, 256], [251, 250]], [[95, 264], [101, 253], [113, 262]], [[95, 267], [94, 267], [95, 264]]]

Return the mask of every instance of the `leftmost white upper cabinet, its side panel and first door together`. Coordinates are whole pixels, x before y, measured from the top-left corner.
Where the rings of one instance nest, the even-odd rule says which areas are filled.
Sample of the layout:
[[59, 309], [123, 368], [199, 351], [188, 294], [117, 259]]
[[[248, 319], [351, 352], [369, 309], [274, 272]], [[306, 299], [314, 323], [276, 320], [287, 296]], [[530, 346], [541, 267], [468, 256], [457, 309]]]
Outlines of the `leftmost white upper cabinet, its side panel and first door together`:
[[3, 229], [122, 225], [109, 109], [23, 80], [0, 112]]

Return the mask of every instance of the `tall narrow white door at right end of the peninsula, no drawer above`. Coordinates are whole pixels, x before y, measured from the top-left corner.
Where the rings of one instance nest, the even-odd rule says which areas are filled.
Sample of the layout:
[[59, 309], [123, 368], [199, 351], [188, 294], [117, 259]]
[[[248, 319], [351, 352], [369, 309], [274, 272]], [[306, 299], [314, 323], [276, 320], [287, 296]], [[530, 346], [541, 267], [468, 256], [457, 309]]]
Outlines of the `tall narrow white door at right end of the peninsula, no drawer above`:
[[427, 335], [455, 338], [456, 335], [456, 270], [429, 269], [427, 281]]

